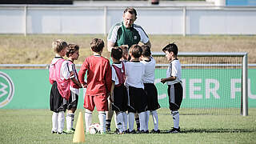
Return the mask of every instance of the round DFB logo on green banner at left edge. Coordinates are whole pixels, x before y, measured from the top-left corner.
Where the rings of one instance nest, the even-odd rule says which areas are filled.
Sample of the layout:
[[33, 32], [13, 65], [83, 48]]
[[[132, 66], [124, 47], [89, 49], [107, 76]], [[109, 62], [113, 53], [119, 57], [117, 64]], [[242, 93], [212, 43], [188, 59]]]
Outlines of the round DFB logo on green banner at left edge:
[[6, 106], [14, 96], [14, 82], [0, 71], [0, 108]]

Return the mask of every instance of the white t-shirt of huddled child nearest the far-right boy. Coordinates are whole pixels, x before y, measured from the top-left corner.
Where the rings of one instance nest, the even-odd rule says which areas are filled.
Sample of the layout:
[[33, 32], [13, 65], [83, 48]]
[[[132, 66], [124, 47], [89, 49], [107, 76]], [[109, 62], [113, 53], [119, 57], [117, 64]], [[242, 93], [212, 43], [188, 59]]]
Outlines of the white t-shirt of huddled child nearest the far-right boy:
[[154, 69], [155, 69], [155, 60], [153, 57], [150, 57], [150, 61], [141, 61], [145, 66], [145, 74], [142, 77], [143, 83], [154, 83]]

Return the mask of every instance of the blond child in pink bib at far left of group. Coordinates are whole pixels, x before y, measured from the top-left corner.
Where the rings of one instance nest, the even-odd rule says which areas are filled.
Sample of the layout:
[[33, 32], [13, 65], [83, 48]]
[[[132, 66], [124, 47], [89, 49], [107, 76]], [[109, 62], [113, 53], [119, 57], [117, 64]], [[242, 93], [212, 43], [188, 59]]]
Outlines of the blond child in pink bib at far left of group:
[[66, 134], [64, 129], [66, 103], [70, 98], [70, 76], [68, 62], [62, 58], [66, 54], [67, 43], [58, 39], [52, 43], [55, 57], [50, 64], [49, 80], [52, 84], [50, 90], [50, 110], [52, 115], [52, 134]]

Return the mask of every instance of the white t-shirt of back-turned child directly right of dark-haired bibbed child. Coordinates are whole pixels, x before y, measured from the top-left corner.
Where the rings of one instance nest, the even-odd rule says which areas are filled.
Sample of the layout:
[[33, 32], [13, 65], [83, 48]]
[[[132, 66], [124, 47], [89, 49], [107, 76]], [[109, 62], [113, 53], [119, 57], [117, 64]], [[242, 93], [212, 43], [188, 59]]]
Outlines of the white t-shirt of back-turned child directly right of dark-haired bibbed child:
[[126, 86], [133, 86], [144, 89], [142, 76], [145, 74], [145, 67], [142, 62], [126, 62]]

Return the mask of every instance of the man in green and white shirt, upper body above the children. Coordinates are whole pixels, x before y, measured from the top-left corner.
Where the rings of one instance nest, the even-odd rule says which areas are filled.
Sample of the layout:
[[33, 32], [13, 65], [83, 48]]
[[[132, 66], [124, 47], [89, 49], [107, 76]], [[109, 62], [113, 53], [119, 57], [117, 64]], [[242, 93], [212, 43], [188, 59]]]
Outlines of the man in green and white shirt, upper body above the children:
[[137, 12], [132, 7], [127, 7], [122, 14], [122, 22], [118, 22], [111, 27], [107, 37], [107, 49], [111, 52], [112, 47], [134, 44], [142, 42], [151, 47], [150, 38], [146, 35], [142, 26], [134, 24], [137, 19]]

